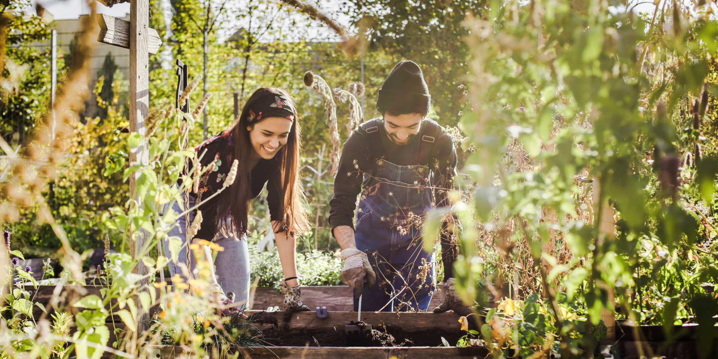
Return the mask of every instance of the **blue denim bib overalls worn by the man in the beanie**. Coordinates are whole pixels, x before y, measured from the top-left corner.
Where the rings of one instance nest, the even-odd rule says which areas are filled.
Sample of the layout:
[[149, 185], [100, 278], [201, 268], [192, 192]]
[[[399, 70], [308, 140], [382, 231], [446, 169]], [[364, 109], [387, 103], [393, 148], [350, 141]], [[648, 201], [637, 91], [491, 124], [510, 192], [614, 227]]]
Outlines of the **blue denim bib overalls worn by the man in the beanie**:
[[[360, 193], [355, 241], [365, 251], [376, 273], [373, 289], [363, 290], [362, 310], [382, 312], [426, 311], [435, 289], [434, 253], [426, 253], [421, 241], [421, 223], [433, 208], [429, 154], [438, 125], [425, 122], [416, 163], [398, 166], [382, 159], [381, 132], [375, 120], [366, 131], [376, 169], [364, 174]], [[416, 220], [419, 219], [419, 222]], [[358, 301], [354, 301], [354, 310]]]

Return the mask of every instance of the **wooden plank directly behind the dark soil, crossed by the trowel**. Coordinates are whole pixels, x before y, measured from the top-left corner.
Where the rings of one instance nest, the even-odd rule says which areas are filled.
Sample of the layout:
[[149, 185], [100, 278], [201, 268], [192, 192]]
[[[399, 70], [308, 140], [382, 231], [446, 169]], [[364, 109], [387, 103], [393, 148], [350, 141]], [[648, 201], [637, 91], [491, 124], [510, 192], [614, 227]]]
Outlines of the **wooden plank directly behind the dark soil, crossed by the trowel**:
[[[247, 311], [247, 315], [251, 315], [259, 311]], [[281, 322], [284, 312], [269, 313], [274, 315]], [[419, 330], [459, 329], [459, 314], [454, 312], [447, 313], [416, 313], [416, 312], [362, 312], [361, 320], [371, 325], [396, 325], [401, 327], [405, 332], [413, 332]], [[344, 330], [344, 326], [350, 321], [357, 320], [356, 312], [328, 312], [326, 318], [317, 317], [317, 313], [297, 312], [292, 314], [292, 320], [289, 320], [289, 330]]]

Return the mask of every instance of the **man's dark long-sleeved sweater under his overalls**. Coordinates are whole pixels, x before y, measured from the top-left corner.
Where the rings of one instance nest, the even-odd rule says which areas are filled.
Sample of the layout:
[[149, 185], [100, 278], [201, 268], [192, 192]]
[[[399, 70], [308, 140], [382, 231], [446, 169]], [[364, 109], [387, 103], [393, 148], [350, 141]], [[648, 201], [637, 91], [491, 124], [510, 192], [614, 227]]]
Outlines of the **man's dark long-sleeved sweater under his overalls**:
[[[381, 138], [381, 146], [371, 143], [372, 138], [367, 134], [366, 123], [361, 124], [353, 131], [342, 149], [342, 157], [339, 162], [339, 170], [334, 181], [334, 197], [330, 201], [331, 210], [329, 222], [332, 232], [339, 225], [348, 225], [354, 228], [354, 212], [356, 209], [357, 196], [365, 180], [364, 173], [372, 173], [376, 166], [377, 158], [386, 160], [398, 166], [423, 165], [428, 166], [434, 172], [432, 187], [434, 187], [434, 200], [437, 207], [449, 205], [447, 190], [451, 189], [454, 174], [456, 172], [456, 151], [452, 144], [452, 138], [447, 131], [439, 129], [434, 139], [432, 153], [428, 163], [419, 163], [419, 148], [422, 136], [429, 131], [427, 121], [421, 122], [419, 133], [411, 136], [404, 145], [394, 144], [389, 139], [384, 129], [383, 120], [377, 119], [378, 134]], [[376, 133], [375, 133], [376, 134]], [[429, 144], [429, 143], [426, 143]], [[379, 153], [379, 152], [383, 153]], [[457, 243], [451, 243], [449, 238], [442, 236], [442, 260], [444, 261], [444, 277], [449, 278], [453, 274], [452, 265], [456, 259], [458, 249]]]

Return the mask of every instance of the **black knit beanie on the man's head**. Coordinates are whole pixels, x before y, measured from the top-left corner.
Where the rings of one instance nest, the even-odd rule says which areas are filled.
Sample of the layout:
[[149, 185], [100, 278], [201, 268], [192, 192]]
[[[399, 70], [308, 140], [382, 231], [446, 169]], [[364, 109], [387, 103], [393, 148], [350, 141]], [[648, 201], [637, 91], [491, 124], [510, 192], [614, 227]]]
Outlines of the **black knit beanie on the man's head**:
[[380, 113], [429, 113], [432, 96], [416, 62], [400, 61], [384, 80], [376, 98]]

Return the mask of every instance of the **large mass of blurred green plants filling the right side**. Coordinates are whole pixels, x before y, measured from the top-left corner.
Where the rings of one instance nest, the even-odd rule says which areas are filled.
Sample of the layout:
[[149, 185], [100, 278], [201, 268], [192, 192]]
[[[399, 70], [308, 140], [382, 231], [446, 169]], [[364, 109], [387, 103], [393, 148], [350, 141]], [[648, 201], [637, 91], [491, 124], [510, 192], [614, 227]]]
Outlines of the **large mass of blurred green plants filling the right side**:
[[[622, 316], [668, 332], [676, 320], [709, 328], [718, 310], [707, 304], [718, 278], [699, 271], [716, 258], [714, 113], [705, 110], [716, 53], [700, 40], [716, 23], [709, 5], [668, 4], [654, 19], [608, 6], [493, 1], [467, 22], [457, 290], [481, 302], [483, 286], [517, 278], [513, 289], [541, 293], [564, 357], [597, 345], [602, 310], [614, 309], [609, 289]], [[582, 335], [556, 315], [568, 303], [585, 315]], [[714, 332], [701, 332], [702, 353]]]

